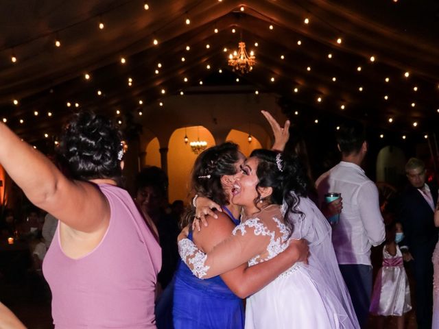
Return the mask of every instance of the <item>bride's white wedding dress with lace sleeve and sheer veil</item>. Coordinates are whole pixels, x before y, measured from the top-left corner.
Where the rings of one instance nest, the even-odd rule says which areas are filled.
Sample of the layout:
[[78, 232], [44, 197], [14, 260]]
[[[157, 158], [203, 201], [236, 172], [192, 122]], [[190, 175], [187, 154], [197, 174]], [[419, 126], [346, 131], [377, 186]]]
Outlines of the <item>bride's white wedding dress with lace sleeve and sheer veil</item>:
[[[292, 237], [309, 241], [309, 265], [296, 263], [247, 298], [246, 329], [359, 328], [337, 267], [331, 228], [309, 199], [301, 198], [299, 208], [305, 216], [290, 214], [294, 221]], [[232, 237], [207, 255], [183, 239], [179, 243], [180, 256], [199, 278], [223, 273], [245, 261], [249, 266], [256, 265], [287, 247], [289, 230], [282, 218], [280, 206], [268, 206], [257, 217], [237, 226]], [[261, 245], [262, 252], [248, 256], [252, 250], [260, 250]]]

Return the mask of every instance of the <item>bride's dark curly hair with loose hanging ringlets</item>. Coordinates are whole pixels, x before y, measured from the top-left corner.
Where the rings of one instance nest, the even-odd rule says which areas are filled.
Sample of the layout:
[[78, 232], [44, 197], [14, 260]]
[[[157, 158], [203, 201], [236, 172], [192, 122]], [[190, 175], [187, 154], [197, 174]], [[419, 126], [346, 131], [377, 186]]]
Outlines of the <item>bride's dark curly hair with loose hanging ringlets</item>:
[[[282, 171], [278, 168], [276, 156], [280, 156], [279, 165]], [[279, 154], [268, 149], [255, 149], [250, 154], [250, 157], [258, 159], [256, 171], [258, 177], [258, 184], [256, 186], [258, 197], [254, 199], [254, 204], [257, 206], [257, 202], [261, 197], [258, 187], [271, 187], [273, 191], [268, 201], [271, 204], [283, 204], [285, 200], [287, 204], [284, 222], [289, 228], [291, 235], [293, 223], [289, 221], [287, 214], [294, 212], [304, 216], [303, 212], [298, 210], [298, 205], [300, 197], [307, 197], [310, 186], [310, 180], [305, 168], [296, 154], [287, 156], [286, 154]]]

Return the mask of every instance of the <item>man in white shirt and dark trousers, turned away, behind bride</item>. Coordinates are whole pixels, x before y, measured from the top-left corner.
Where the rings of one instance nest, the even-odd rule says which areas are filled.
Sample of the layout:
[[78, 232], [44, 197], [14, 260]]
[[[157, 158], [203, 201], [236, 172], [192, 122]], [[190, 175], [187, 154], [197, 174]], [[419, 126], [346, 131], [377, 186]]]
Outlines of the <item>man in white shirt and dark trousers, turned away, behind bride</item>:
[[377, 186], [360, 167], [368, 149], [364, 127], [359, 123], [340, 127], [337, 147], [342, 152], [342, 161], [322, 174], [316, 187], [320, 206], [326, 193], [341, 193], [343, 197], [332, 241], [359, 324], [366, 328], [372, 293], [370, 247], [384, 241], [385, 229]]

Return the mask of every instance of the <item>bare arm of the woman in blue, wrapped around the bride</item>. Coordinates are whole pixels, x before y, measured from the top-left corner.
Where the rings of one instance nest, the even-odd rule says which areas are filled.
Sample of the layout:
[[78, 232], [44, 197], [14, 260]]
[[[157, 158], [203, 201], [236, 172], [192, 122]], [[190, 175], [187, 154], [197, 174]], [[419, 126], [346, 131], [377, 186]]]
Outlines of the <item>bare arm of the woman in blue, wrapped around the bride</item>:
[[[218, 213], [218, 219], [208, 217], [211, 225], [201, 232], [193, 232], [194, 241], [205, 252], [227, 239], [235, 226], [230, 219]], [[307, 258], [308, 246], [305, 240], [292, 241], [292, 245], [278, 256], [248, 267], [247, 263], [236, 269], [221, 274], [221, 278], [235, 295], [245, 298], [272, 282], [281, 273], [292, 267], [294, 263]]]

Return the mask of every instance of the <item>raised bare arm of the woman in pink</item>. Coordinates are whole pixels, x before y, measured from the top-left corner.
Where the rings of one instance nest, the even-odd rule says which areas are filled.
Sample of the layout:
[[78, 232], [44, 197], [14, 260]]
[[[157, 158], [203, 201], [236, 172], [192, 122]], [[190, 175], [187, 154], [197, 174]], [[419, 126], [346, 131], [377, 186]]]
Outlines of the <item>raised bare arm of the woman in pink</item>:
[[94, 232], [108, 221], [110, 208], [99, 189], [68, 180], [39, 151], [0, 123], [0, 164], [29, 200], [82, 232]]

